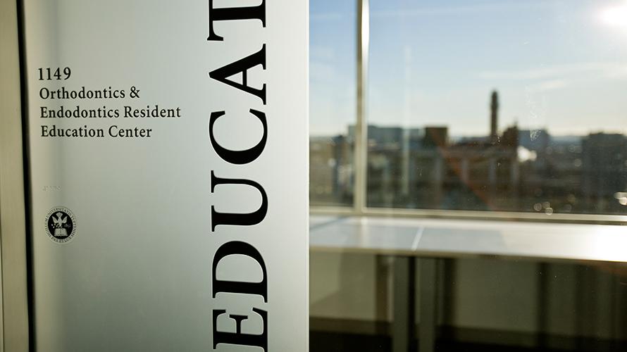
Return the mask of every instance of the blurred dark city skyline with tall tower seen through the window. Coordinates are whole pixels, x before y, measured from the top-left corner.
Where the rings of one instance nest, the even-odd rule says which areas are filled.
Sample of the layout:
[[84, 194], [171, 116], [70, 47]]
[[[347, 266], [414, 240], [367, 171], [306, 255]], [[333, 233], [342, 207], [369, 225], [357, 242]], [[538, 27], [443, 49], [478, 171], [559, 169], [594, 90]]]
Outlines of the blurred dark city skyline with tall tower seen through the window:
[[[367, 125], [368, 206], [552, 213], [623, 213], [627, 136], [499, 125], [490, 94], [488, 134], [452, 138], [447, 125]], [[352, 203], [356, 131], [311, 137], [310, 199]]]

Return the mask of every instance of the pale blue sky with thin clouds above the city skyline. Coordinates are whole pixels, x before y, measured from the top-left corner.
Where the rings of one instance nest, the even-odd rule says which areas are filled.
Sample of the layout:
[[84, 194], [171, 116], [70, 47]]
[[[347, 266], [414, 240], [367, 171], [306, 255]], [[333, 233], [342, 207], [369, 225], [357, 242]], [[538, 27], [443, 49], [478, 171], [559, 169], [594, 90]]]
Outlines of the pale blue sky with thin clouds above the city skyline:
[[[371, 0], [367, 118], [627, 134], [627, 0]], [[356, 4], [310, 1], [312, 135], [355, 120]]]

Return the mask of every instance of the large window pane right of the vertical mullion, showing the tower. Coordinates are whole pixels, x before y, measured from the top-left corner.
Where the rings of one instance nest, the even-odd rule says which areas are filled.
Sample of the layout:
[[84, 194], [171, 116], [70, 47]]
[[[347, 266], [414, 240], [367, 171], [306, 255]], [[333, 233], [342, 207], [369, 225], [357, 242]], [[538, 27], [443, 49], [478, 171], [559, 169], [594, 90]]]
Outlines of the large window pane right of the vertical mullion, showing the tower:
[[371, 1], [368, 206], [627, 210], [627, 3]]

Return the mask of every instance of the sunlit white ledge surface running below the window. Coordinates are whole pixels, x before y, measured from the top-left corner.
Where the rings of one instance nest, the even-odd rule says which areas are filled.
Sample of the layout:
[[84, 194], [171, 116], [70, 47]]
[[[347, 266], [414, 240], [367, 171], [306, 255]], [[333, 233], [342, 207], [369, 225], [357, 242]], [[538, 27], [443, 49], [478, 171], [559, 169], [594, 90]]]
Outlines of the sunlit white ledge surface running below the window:
[[627, 227], [311, 215], [312, 251], [627, 263]]

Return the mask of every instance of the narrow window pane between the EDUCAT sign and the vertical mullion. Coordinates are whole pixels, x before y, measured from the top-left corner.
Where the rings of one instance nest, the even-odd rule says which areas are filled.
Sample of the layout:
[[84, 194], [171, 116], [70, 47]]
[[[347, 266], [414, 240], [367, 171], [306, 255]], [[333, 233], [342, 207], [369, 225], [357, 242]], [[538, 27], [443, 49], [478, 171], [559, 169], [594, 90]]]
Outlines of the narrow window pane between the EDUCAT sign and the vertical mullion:
[[349, 206], [354, 143], [347, 126], [356, 121], [356, 4], [312, 0], [309, 6], [310, 203]]

